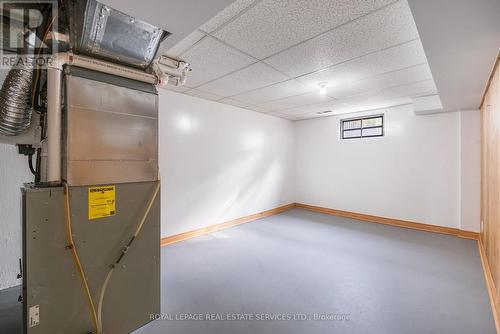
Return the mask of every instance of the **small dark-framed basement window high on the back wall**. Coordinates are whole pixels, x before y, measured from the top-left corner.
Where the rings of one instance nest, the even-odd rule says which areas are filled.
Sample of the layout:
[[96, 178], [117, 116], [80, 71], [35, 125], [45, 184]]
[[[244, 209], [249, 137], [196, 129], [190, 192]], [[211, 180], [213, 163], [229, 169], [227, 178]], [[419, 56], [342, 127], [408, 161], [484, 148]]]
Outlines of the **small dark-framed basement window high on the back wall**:
[[382, 137], [384, 135], [384, 115], [357, 117], [340, 120], [342, 139]]

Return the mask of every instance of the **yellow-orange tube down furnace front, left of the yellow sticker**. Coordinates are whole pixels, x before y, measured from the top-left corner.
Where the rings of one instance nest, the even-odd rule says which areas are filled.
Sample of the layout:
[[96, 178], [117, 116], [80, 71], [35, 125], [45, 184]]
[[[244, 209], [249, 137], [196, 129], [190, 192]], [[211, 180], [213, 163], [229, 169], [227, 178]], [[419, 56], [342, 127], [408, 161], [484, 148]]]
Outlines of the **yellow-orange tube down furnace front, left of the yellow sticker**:
[[87, 304], [92, 318], [92, 323], [94, 325], [96, 332], [100, 333], [98, 332], [97, 315], [95, 311], [94, 302], [92, 300], [92, 295], [90, 294], [89, 286], [87, 284], [87, 279], [85, 278], [85, 272], [83, 271], [82, 263], [80, 262], [80, 258], [78, 257], [78, 253], [75, 248], [75, 243], [73, 242], [73, 232], [71, 229], [71, 211], [69, 206], [69, 188], [67, 183], [64, 184], [64, 202], [65, 202], [64, 211], [66, 214], [66, 242], [67, 242], [66, 249], [69, 249], [71, 251], [73, 263], [75, 264], [78, 274], [80, 274], [80, 279], [85, 292], [85, 296], [87, 297]]

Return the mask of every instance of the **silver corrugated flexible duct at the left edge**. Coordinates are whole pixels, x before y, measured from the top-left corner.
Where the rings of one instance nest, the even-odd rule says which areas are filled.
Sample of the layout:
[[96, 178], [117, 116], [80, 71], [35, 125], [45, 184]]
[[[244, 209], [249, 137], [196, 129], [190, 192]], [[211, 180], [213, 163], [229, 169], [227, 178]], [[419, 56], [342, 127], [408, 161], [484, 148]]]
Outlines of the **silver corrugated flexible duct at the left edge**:
[[[31, 36], [30, 36], [31, 39]], [[29, 44], [29, 43], [26, 43]], [[18, 64], [7, 74], [0, 90], [0, 134], [16, 136], [31, 125], [32, 46], [25, 48]], [[22, 61], [27, 60], [27, 61]]]

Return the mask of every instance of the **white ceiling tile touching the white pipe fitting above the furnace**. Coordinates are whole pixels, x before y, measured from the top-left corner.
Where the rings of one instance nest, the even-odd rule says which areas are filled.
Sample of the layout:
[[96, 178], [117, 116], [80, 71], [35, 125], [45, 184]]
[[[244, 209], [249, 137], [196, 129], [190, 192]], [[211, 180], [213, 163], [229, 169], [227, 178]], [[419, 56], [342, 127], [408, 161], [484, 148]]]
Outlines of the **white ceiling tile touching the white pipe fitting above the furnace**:
[[197, 87], [252, 64], [255, 60], [209, 36], [182, 55], [192, 68], [186, 85]]

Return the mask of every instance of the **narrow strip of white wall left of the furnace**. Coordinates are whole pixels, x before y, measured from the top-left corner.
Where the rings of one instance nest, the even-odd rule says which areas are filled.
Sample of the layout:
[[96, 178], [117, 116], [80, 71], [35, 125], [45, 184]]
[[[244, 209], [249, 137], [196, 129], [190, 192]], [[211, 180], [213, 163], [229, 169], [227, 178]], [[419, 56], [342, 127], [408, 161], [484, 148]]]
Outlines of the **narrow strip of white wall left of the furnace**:
[[32, 179], [27, 157], [0, 144], [0, 289], [21, 284], [21, 187]]

